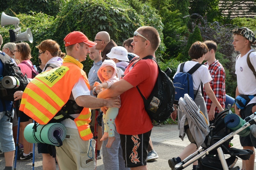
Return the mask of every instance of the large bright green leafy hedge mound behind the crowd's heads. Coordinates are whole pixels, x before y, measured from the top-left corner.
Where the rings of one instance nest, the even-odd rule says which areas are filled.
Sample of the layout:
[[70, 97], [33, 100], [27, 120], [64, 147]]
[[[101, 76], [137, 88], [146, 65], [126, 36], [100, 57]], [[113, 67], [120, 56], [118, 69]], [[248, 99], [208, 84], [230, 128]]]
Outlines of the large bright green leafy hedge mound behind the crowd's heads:
[[[132, 4], [132, 2], [134, 2]], [[136, 10], [132, 5], [136, 5]], [[12, 5], [14, 6], [14, 5]], [[10, 6], [11, 9], [14, 9]], [[44, 13], [27, 12], [27, 14], [12, 13], [12, 16], [20, 19], [19, 26], [22, 32], [26, 28], [30, 28], [33, 34], [33, 43], [31, 44], [32, 62], [38, 65], [37, 56], [38, 49], [35, 48], [41, 41], [45, 39], [56, 40], [61, 46], [61, 50], [65, 52], [63, 38], [72, 31], [81, 31], [90, 40], [94, 40], [95, 35], [100, 31], [107, 31], [117, 45], [122, 46], [123, 41], [129, 37], [133, 37], [133, 32], [140, 26], [155, 27], [160, 38], [163, 39], [163, 24], [157, 11], [149, 3], [139, 3], [139, 0], [124, 0], [119, 3], [118, 0], [72, 0], [66, 1], [61, 6], [61, 12], [56, 16], [46, 15]], [[7, 27], [12, 28], [12, 26]], [[8, 29], [4, 30], [5, 41], [9, 42]], [[156, 56], [161, 58], [165, 51], [163, 41], [161, 41]], [[92, 61], [83, 62], [84, 68], [88, 73]]]

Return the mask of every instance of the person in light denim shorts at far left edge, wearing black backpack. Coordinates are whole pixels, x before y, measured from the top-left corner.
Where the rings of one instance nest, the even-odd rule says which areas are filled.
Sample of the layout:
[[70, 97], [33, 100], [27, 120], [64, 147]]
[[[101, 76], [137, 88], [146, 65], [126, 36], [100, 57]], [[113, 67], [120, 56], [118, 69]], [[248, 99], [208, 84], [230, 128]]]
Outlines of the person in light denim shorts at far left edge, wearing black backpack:
[[[0, 49], [3, 44], [3, 37], [0, 35]], [[4, 52], [0, 51], [0, 57], [8, 56]], [[9, 57], [9, 56], [8, 56]], [[10, 58], [11, 60], [11, 58]], [[0, 60], [0, 75], [3, 73], [3, 63]], [[5, 104], [5, 109], [3, 104]], [[15, 145], [14, 145], [14, 139], [12, 136], [12, 122], [10, 122], [10, 119], [7, 115], [5, 115], [5, 112], [8, 111], [11, 113], [11, 116], [13, 117], [14, 111], [12, 109], [12, 101], [0, 101], [0, 149], [4, 153], [5, 158], [5, 168], [4, 170], [12, 170], [13, 165], [13, 159], [14, 159], [14, 151], [15, 151]], [[6, 110], [6, 111], [5, 111]]]

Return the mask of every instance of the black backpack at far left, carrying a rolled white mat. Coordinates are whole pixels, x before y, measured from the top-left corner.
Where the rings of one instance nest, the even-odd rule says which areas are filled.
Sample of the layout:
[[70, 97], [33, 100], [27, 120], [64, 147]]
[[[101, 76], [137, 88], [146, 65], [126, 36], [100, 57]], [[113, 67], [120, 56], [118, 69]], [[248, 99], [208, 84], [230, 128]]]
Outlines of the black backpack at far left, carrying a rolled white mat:
[[[29, 83], [29, 80], [27, 79], [27, 75], [22, 74], [20, 68], [13, 63], [11, 57], [9, 57], [7, 54], [0, 54], [0, 60], [3, 63], [3, 79], [0, 82], [0, 98], [1, 100], [14, 101], [14, 93], [16, 91], [24, 91]], [[2, 83], [9, 83], [8, 80], [4, 78], [6, 76], [14, 77], [17, 85], [13, 88], [5, 88]]]

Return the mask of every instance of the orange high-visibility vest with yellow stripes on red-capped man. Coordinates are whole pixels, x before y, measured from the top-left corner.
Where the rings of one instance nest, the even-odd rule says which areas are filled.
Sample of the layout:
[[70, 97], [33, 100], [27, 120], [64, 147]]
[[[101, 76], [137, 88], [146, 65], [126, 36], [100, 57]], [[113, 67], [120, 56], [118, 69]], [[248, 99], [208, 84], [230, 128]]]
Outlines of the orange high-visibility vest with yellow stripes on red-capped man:
[[[40, 124], [47, 124], [67, 103], [81, 76], [90, 89], [86, 73], [74, 63], [63, 63], [58, 68], [38, 74], [24, 90], [19, 110]], [[90, 109], [84, 108], [74, 120], [83, 140], [93, 137], [89, 128], [90, 117]]]

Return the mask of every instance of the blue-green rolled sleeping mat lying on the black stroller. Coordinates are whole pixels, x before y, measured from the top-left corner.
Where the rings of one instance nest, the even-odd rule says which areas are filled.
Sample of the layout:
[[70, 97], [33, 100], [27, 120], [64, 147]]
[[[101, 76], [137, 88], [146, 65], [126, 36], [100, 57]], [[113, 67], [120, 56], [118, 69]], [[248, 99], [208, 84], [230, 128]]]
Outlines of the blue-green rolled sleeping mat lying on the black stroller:
[[[237, 114], [227, 114], [224, 118], [224, 122], [227, 124], [227, 127], [233, 131], [238, 130], [246, 123]], [[247, 127], [238, 133], [239, 136], [247, 136], [249, 134], [250, 134], [250, 127]]]

